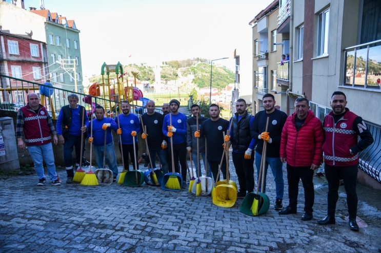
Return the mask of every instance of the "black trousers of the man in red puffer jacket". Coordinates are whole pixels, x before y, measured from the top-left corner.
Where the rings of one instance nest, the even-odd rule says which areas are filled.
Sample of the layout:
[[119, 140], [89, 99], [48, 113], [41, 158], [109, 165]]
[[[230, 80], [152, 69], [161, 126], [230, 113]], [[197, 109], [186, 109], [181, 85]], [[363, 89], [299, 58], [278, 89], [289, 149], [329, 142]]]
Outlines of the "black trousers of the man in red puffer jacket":
[[287, 164], [288, 196], [290, 208], [297, 209], [297, 195], [299, 193], [299, 179], [302, 179], [304, 188], [304, 211], [312, 213], [315, 201], [315, 190], [313, 188], [313, 170], [311, 167], [293, 167]]

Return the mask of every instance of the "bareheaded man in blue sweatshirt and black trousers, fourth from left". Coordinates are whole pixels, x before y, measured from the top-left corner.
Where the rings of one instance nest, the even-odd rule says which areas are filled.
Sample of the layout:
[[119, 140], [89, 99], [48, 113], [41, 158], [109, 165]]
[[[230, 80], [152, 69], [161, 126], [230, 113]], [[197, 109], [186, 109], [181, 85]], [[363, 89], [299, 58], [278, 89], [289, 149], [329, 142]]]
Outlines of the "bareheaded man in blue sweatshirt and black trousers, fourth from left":
[[[118, 129], [116, 132], [118, 134], [122, 134], [122, 149], [121, 145], [119, 146], [119, 151], [121, 151], [121, 154], [123, 152], [123, 158], [125, 161], [125, 166], [127, 168], [123, 168], [125, 170], [129, 170], [128, 168], [128, 154], [130, 154], [131, 162], [132, 162], [132, 168], [133, 170], [138, 169], [138, 165], [135, 165], [135, 158], [137, 160], [137, 136], [136, 133], [138, 133], [141, 129], [139, 118], [133, 113], [130, 113], [131, 107], [130, 103], [128, 101], [123, 101], [121, 103], [121, 109], [122, 114], [119, 114], [117, 118], [115, 118], [115, 123], [121, 126], [120, 129]], [[120, 142], [120, 141], [119, 141]], [[135, 157], [134, 157], [134, 145], [135, 145]]]

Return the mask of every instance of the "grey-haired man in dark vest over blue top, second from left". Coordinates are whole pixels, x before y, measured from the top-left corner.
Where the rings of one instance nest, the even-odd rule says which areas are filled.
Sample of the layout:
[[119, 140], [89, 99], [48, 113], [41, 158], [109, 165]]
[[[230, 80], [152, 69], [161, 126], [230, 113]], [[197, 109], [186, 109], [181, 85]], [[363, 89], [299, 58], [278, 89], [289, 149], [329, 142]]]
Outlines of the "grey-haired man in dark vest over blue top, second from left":
[[[57, 133], [58, 141], [64, 144], [64, 160], [67, 173], [66, 183], [72, 183], [73, 172], [73, 148], [75, 146], [75, 170], [79, 167], [81, 162], [81, 140], [82, 134], [86, 134], [86, 130], [89, 126], [89, 118], [85, 113], [85, 122], [82, 126], [83, 107], [78, 105], [79, 98], [76, 94], [70, 94], [68, 96], [68, 105], [61, 108], [57, 119]], [[85, 110], [86, 111], [86, 110]], [[85, 143], [85, 140], [83, 140]], [[83, 143], [83, 144], [84, 144]], [[85, 151], [85, 145], [83, 145], [82, 152]]]

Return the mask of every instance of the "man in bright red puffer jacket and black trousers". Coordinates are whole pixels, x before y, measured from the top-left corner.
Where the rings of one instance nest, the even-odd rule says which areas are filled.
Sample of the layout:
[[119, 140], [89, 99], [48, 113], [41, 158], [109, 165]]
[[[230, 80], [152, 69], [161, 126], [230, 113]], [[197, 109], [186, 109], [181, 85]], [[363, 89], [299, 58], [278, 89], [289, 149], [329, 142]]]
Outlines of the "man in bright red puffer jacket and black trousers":
[[309, 109], [307, 99], [296, 99], [295, 112], [287, 118], [280, 139], [280, 160], [287, 163], [290, 203], [279, 214], [296, 214], [299, 179], [302, 179], [305, 199], [302, 220], [313, 217], [313, 172], [323, 158], [323, 126]]

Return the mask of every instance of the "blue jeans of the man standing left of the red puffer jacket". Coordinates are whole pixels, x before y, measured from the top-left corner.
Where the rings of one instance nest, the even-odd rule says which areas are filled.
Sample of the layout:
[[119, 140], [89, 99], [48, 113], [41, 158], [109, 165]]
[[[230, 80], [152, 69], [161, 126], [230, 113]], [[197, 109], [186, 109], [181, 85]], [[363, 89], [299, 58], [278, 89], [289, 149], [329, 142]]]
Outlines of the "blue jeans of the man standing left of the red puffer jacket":
[[[262, 159], [262, 155], [255, 152], [255, 167], [257, 168], [257, 175], [259, 176], [259, 169], [260, 169], [260, 160]], [[265, 163], [265, 188], [264, 192], [266, 192], [266, 176], [267, 176], [267, 168], [271, 167], [272, 174], [274, 176], [275, 181], [275, 194], [276, 198], [283, 199], [283, 191], [285, 188], [285, 182], [283, 180], [283, 164], [282, 161], [280, 161], [279, 157], [266, 157], [266, 163]], [[258, 185], [259, 189], [261, 189], [262, 185], [262, 178], [258, 178]]]

